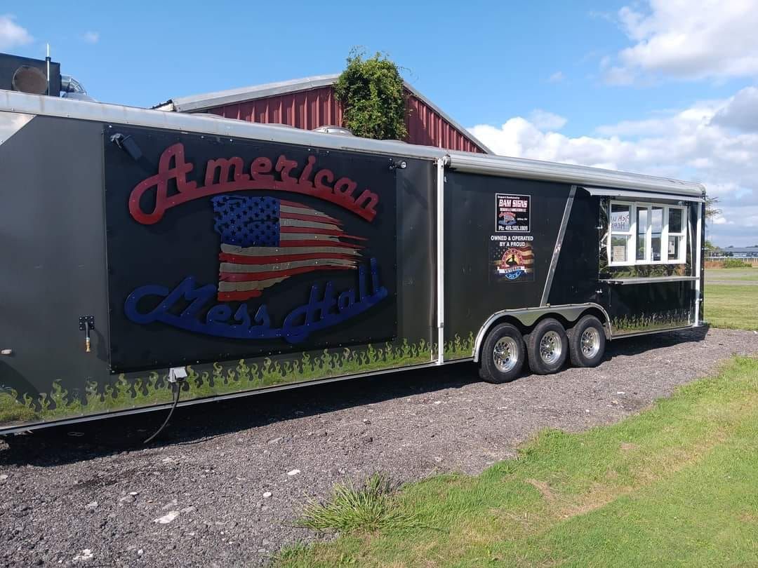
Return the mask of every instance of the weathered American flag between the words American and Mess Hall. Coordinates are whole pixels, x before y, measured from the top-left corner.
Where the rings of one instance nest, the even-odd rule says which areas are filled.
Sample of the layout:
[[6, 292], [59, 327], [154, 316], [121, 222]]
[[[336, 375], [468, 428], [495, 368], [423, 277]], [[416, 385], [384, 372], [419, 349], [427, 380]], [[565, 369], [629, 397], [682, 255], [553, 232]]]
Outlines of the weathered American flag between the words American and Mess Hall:
[[218, 195], [211, 199], [221, 235], [218, 300], [255, 298], [283, 280], [315, 270], [351, 270], [361, 237], [313, 208], [272, 197]]

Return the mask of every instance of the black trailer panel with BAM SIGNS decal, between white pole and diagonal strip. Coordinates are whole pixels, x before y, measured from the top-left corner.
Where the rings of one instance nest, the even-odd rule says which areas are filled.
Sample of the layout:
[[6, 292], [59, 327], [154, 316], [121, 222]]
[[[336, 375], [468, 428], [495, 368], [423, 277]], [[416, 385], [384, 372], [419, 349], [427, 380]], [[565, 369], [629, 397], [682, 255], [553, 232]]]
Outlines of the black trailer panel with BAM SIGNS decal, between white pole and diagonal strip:
[[446, 359], [455, 359], [471, 357], [494, 312], [540, 305], [570, 186], [448, 172], [445, 189]]

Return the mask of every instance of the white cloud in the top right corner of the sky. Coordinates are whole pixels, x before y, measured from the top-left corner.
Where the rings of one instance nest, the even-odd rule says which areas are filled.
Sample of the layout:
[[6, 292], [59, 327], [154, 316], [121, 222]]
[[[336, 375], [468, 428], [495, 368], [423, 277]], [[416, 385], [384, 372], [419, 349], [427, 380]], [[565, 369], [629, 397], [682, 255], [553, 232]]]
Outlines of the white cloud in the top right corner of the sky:
[[608, 83], [758, 75], [756, 0], [646, 0], [618, 19], [632, 45], [601, 64]]

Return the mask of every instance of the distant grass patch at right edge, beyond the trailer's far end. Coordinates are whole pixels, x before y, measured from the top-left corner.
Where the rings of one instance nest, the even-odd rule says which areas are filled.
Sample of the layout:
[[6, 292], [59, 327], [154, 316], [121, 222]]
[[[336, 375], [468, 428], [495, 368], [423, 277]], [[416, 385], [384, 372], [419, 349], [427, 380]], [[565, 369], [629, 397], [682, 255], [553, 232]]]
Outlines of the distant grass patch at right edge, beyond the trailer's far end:
[[716, 327], [758, 329], [758, 286], [706, 284], [705, 317]]

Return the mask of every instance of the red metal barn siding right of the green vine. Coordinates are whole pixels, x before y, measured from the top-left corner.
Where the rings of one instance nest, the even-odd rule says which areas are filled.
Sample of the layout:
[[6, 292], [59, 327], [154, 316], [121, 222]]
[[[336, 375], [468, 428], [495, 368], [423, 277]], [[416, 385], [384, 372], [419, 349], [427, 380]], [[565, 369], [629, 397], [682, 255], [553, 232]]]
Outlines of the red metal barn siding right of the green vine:
[[484, 153], [482, 148], [412, 93], [407, 93], [406, 97], [406, 127], [407, 141], [411, 144]]

